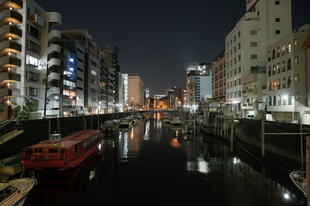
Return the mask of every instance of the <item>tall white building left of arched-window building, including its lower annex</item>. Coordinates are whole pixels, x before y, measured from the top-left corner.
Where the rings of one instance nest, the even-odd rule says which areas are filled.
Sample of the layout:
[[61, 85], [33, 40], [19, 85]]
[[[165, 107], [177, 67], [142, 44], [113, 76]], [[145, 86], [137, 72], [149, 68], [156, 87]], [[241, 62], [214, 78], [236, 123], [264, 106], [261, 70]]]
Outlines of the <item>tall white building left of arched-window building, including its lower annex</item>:
[[[291, 0], [246, 1], [247, 11], [225, 38], [226, 103], [242, 117], [261, 118], [266, 47], [292, 32]], [[253, 75], [244, 79], [248, 75]], [[246, 83], [244, 83], [244, 81]], [[260, 96], [260, 97], [258, 97]], [[243, 108], [246, 103], [245, 108]]]

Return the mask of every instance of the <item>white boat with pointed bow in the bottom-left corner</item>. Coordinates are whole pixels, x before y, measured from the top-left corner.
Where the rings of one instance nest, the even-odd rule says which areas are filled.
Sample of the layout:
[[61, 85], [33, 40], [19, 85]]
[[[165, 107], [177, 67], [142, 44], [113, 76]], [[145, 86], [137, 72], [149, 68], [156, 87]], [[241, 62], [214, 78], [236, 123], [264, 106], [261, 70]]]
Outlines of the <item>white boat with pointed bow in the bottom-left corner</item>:
[[30, 178], [20, 178], [0, 183], [0, 206], [22, 206], [30, 192], [37, 185], [33, 171]]

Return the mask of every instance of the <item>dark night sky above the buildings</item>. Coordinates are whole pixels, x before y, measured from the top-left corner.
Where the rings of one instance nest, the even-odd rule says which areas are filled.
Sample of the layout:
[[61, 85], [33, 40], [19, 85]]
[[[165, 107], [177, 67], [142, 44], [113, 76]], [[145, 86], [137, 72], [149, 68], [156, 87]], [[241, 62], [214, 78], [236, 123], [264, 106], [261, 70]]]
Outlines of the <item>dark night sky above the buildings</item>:
[[[212, 63], [246, 13], [246, 0], [36, 2], [61, 13], [54, 29], [86, 29], [99, 49], [118, 47], [120, 72], [138, 73], [151, 95], [185, 86], [187, 59]], [[310, 23], [309, 8], [310, 0], [292, 0], [293, 30]]]

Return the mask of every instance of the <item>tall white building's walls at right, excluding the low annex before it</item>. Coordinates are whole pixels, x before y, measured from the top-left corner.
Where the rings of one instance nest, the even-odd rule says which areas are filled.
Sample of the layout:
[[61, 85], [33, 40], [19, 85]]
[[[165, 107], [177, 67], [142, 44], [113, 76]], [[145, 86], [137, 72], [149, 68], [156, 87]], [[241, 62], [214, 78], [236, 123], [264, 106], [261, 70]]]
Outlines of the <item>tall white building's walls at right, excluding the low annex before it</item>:
[[[279, 21], [278, 21], [279, 20]], [[291, 0], [258, 0], [225, 38], [226, 102], [243, 103], [245, 85], [235, 85], [251, 73], [251, 67], [264, 67], [265, 48], [291, 33]]]

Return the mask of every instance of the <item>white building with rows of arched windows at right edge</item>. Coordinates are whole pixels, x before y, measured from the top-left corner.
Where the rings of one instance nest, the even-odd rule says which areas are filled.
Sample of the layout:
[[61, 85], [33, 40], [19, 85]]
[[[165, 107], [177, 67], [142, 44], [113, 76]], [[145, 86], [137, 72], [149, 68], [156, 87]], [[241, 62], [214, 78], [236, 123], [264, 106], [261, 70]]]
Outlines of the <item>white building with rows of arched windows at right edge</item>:
[[272, 112], [272, 120], [293, 122], [310, 111], [306, 50], [302, 48], [309, 35], [307, 24], [266, 48], [267, 111]]

